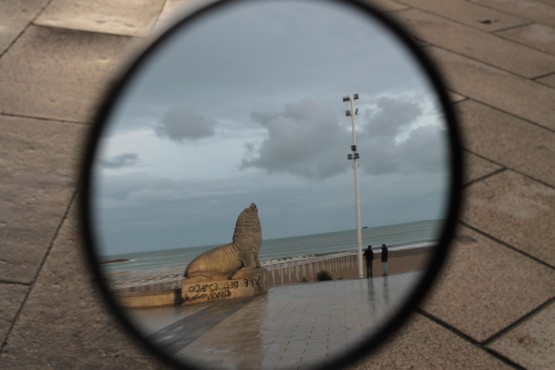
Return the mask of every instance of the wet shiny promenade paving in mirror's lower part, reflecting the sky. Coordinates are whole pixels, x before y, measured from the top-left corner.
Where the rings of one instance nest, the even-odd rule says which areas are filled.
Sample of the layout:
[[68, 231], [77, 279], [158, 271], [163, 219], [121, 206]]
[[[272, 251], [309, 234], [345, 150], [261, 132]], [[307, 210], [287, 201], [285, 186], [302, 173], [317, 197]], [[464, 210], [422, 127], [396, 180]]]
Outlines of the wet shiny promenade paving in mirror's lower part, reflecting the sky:
[[304, 369], [375, 332], [421, 274], [279, 286], [244, 300], [128, 312], [177, 359], [215, 369]]

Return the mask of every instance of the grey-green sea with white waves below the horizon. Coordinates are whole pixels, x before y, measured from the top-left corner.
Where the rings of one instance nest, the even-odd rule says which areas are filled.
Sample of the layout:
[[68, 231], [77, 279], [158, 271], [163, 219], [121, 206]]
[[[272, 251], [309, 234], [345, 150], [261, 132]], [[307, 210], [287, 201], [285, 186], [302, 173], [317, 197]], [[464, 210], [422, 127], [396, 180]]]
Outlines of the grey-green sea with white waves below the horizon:
[[[364, 227], [362, 229], [362, 246], [365, 249], [371, 244], [373, 249], [379, 250], [382, 244], [386, 244], [390, 251], [394, 251], [396, 249], [434, 245], [439, 239], [442, 225], [443, 220], [425, 220], [395, 225]], [[178, 266], [185, 268], [193, 258], [218, 245], [221, 244], [114, 254], [103, 256], [101, 260], [126, 259], [127, 261], [103, 263], [101, 266], [106, 272], [142, 272]], [[263, 240], [259, 259], [261, 261], [276, 260], [287, 257], [346, 252], [356, 249], [356, 230], [343, 230]]]

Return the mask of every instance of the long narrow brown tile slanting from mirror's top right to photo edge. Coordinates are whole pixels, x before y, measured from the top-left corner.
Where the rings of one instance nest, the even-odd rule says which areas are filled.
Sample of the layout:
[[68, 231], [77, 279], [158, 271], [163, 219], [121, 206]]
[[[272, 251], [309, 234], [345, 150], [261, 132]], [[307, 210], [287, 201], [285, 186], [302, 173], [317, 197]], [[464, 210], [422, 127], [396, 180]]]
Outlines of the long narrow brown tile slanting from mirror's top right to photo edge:
[[532, 78], [555, 72], [555, 56], [496, 35], [418, 9], [397, 12], [396, 18], [418, 38], [523, 77]]

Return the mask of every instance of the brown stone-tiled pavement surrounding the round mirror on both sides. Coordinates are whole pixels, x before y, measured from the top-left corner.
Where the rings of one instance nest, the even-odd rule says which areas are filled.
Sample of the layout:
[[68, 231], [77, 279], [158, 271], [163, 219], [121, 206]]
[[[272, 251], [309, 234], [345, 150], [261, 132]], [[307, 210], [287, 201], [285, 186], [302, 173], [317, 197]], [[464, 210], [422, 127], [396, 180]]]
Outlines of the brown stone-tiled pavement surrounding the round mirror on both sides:
[[[555, 368], [555, 2], [374, 2], [454, 93], [466, 200], [430, 297], [352, 369]], [[115, 323], [87, 272], [78, 164], [107, 84], [201, 3], [0, 2], [0, 368], [167, 368]]]

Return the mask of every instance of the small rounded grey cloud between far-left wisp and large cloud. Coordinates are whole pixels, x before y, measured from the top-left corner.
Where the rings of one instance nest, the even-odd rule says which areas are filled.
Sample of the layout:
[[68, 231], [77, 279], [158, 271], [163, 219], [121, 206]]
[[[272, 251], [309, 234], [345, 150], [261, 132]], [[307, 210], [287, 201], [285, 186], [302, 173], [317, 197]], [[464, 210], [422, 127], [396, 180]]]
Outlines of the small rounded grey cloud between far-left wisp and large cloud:
[[187, 109], [173, 107], [166, 111], [160, 123], [154, 127], [156, 135], [183, 143], [197, 141], [214, 135], [216, 122]]

